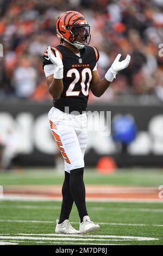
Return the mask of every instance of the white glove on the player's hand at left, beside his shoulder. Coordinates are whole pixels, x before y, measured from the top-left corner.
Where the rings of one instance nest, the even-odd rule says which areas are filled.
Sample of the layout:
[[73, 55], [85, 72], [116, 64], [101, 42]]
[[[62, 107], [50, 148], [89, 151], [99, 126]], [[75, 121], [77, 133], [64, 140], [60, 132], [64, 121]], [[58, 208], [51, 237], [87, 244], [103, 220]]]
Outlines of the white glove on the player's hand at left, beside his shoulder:
[[[56, 55], [56, 57], [55, 57]], [[62, 63], [59, 51], [55, 51], [54, 53], [51, 51], [51, 47], [48, 46], [48, 57], [51, 60], [51, 62], [54, 64], [54, 78], [56, 79], [62, 79], [64, 77], [64, 65]]]

